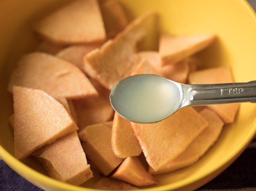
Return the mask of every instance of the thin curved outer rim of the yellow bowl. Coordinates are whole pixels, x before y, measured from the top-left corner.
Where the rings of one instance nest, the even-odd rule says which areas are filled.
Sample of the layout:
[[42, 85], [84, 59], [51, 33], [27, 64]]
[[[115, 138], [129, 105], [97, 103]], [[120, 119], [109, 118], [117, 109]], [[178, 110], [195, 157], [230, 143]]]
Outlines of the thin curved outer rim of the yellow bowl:
[[[246, 0], [240, 0], [244, 6], [248, 9], [249, 13], [252, 15], [254, 18], [255, 24], [256, 24], [256, 12], [252, 8], [252, 6], [249, 4], [248, 1]], [[170, 189], [178, 189], [182, 188], [183, 186], [188, 186], [196, 181], [199, 181], [200, 179], [211, 175], [214, 173], [216, 170], [220, 169], [221, 167], [224, 167], [226, 164], [228, 164], [232, 159], [236, 159], [236, 157], [241, 154], [241, 151], [243, 151], [248, 144], [251, 142], [251, 140], [256, 136], [256, 115], [254, 120], [251, 122], [251, 125], [249, 125], [250, 131], [246, 134], [244, 139], [239, 143], [238, 147], [236, 147], [233, 151], [231, 151], [227, 157], [226, 160], [223, 160], [221, 163], [218, 163], [217, 166], [211, 167], [207, 170], [205, 173], [201, 173], [200, 175], [193, 176], [193, 177], [187, 177], [183, 180], [174, 182], [174, 183], [169, 183], [167, 185], [163, 186], [156, 186], [153, 188], [145, 188], [143, 190], [147, 191], [153, 191], [153, 190], [170, 190]], [[240, 152], [240, 153], [239, 153]], [[85, 190], [90, 190], [90, 191], [95, 191], [96, 189], [93, 188], [86, 188], [86, 187], [81, 187], [81, 186], [74, 186], [68, 183], [64, 183], [58, 180], [55, 180], [53, 178], [50, 178], [47, 175], [44, 175], [40, 172], [37, 172], [31, 167], [28, 167], [24, 163], [22, 163], [20, 160], [16, 159], [12, 154], [10, 154], [7, 150], [5, 150], [2, 145], [0, 144], [0, 157], [2, 160], [7, 163], [8, 166], [10, 166], [15, 172], [20, 174], [19, 172], [26, 172], [26, 174], [30, 177], [36, 177], [36, 179], [40, 180], [38, 183], [40, 184], [45, 184], [49, 185], [52, 188], [58, 188], [58, 189], [65, 189], [65, 190], [76, 190], [76, 191], [85, 191]], [[17, 168], [18, 166], [18, 168]], [[227, 168], [228, 166], [226, 166]], [[18, 169], [18, 170], [17, 170]], [[25, 178], [25, 177], [23, 177]], [[212, 177], [214, 178], [214, 177]], [[211, 178], [211, 179], [212, 179]], [[26, 178], [25, 178], [26, 179]], [[38, 184], [39, 185], [39, 184]]]

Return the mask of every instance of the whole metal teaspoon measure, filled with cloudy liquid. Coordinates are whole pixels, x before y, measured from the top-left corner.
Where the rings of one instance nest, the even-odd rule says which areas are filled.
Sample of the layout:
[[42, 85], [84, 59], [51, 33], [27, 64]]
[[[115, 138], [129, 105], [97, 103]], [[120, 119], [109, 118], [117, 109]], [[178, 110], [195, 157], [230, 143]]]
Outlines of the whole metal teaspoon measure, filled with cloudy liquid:
[[123, 118], [154, 123], [186, 106], [256, 102], [256, 81], [181, 84], [154, 74], [140, 74], [117, 83], [110, 93], [110, 101]]

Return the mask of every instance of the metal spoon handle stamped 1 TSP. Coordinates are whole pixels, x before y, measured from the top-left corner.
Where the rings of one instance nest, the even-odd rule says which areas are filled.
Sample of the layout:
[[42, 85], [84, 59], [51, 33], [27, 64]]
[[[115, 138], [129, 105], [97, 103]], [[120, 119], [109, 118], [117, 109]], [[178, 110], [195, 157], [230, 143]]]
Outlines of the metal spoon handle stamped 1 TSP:
[[248, 83], [192, 84], [183, 87], [184, 106], [256, 102], [256, 81]]

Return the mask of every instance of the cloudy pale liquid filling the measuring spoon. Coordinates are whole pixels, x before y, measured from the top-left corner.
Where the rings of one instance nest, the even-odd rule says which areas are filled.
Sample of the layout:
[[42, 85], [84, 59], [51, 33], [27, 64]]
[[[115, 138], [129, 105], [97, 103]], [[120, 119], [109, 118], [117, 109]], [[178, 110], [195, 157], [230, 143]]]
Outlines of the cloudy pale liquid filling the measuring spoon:
[[178, 83], [153, 74], [130, 76], [112, 89], [111, 104], [119, 115], [138, 123], [170, 116], [181, 105]]

